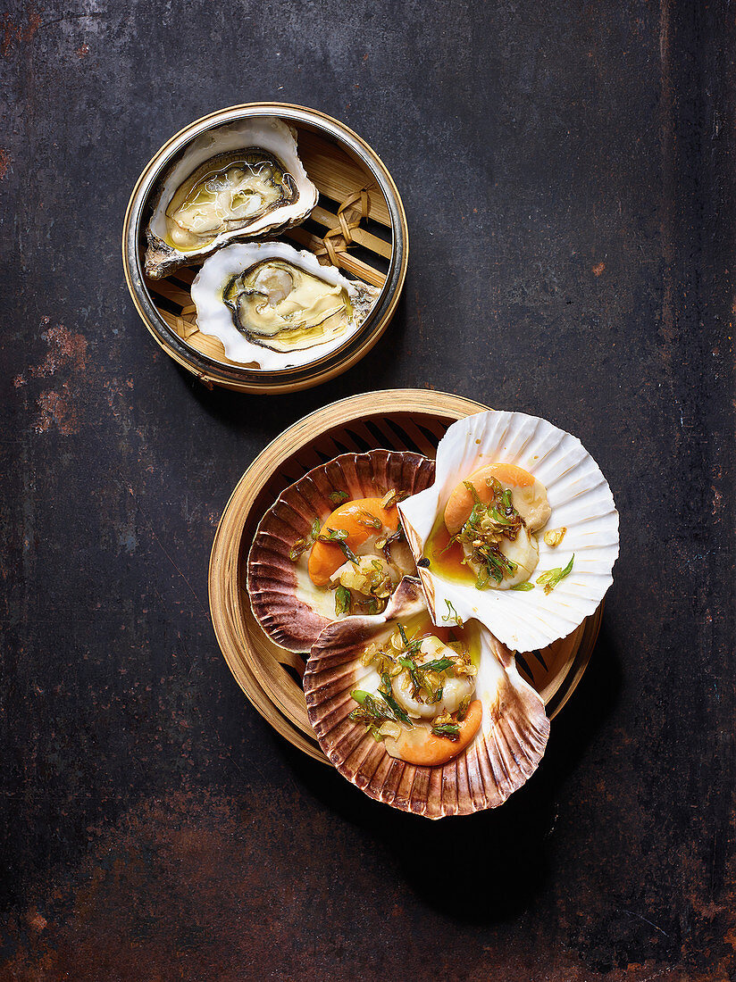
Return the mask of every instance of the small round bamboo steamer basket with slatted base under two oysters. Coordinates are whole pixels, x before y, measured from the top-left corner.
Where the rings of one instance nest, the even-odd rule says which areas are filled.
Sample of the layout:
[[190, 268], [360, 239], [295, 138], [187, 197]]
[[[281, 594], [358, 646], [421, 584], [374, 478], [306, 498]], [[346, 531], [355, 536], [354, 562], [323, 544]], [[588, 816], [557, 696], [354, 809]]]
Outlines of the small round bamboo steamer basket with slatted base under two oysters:
[[[322, 263], [331, 261], [350, 276], [381, 288], [361, 329], [342, 348], [300, 368], [281, 371], [230, 361], [218, 339], [199, 331], [190, 288], [200, 263], [161, 280], [150, 280], [143, 272], [145, 226], [163, 172], [200, 134], [255, 116], [277, 116], [296, 129], [299, 156], [319, 191], [311, 217], [273, 238], [308, 249]], [[375, 151], [338, 120], [285, 102], [231, 106], [172, 136], [146, 164], [123, 224], [125, 278], [143, 323], [166, 354], [209, 389], [218, 385], [261, 395], [296, 392], [346, 371], [368, 354], [391, 321], [408, 259], [404, 206]]]

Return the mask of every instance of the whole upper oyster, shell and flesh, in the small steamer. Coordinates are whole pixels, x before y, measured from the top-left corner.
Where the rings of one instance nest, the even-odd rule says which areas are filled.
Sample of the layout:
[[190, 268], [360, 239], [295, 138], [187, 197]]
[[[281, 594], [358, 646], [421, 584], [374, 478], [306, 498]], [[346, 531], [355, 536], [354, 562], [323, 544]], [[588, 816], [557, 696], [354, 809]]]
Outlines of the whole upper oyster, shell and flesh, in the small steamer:
[[146, 275], [159, 279], [233, 240], [298, 225], [317, 196], [295, 132], [275, 116], [207, 131], [162, 179], [145, 232]]

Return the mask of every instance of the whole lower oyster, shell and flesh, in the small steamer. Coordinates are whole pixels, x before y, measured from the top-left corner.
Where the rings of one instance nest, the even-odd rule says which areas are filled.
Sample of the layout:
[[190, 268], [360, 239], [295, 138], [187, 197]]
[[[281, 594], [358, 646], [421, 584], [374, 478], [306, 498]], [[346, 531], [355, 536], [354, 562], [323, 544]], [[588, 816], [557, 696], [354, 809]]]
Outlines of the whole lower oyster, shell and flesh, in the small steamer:
[[221, 248], [192, 284], [199, 330], [219, 338], [231, 361], [270, 370], [307, 364], [345, 344], [379, 293], [278, 242]]

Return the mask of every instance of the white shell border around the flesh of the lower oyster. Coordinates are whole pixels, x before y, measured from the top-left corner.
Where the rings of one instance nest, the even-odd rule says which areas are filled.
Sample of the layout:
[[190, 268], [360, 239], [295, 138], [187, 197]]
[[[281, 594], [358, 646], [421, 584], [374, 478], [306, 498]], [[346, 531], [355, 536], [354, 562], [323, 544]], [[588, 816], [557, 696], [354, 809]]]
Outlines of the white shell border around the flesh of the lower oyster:
[[[232, 277], [267, 259], [284, 259], [306, 270], [332, 287], [347, 291], [353, 306], [352, 317], [342, 334], [311, 348], [277, 352], [255, 344], [233, 322], [230, 307], [222, 299], [224, 287]], [[225, 246], [205, 259], [192, 284], [192, 300], [197, 306], [197, 323], [202, 334], [213, 335], [222, 342], [231, 361], [255, 364], [265, 370], [294, 368], [309, 364], [344, 345], [359, 330], [380, 291], [360, 280], [348, 280], [335, 266], [321, 266], [308, 251], [298, 251], [286, 243], [236, 243]]]

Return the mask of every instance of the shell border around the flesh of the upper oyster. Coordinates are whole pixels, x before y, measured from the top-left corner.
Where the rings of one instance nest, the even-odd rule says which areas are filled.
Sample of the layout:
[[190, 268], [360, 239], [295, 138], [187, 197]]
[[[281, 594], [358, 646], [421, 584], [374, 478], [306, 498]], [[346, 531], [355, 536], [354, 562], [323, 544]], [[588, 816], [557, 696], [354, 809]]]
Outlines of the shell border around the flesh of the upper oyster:
[[[220, 153], [250, 148], [269, 151], [278, 158], [294, 179], [298, 190], [296, 199], [255, 218], [248, 226], [221, 232], [211, 242], [198, 248], [185, 251], [170, 246], [165, 241], [165, 215], [174, 194], [207, 160]], [[207, 130], [186, 147], [181, 159], [161, 178], [160, 191], [153, 202], [153, 213], [145, 230], [145, 273], [157, 280], [179, 266], [201, 262], [205, 256], [229, 242], [275, 235], [299, 225], [311, 214], [317, 196], [318, 191], [297, 154], [296, 131], [282, 120], [275, 116], [255, 116]]]

